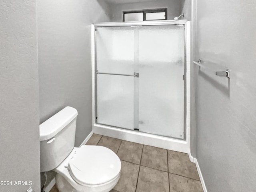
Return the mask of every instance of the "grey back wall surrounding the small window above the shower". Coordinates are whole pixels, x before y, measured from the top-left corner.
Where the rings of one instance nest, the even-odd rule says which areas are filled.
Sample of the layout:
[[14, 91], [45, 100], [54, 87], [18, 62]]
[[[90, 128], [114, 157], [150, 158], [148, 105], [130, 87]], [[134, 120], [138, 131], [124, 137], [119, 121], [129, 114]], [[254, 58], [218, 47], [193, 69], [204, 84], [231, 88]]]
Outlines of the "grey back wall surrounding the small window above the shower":
[[123, 21], [123, 11], [143, 10], [143, 9], [157, 9], [167, 8], [168, 20], [173, 20], [181, 14], [181, 0], [161, 0], [141, 3], [126, 3], [126, 4], [112, 4], [111, 6], [111, 21]]

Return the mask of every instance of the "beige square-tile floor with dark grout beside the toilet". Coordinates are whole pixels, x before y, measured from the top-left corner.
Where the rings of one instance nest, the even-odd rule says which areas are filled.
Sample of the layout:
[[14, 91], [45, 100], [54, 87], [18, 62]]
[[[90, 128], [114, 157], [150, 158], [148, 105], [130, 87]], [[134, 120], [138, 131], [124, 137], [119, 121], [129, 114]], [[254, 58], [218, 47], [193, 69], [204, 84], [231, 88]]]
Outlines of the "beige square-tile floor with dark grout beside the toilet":
[[97, 134], [86, 145], [105, 146], [120, 158], [121, 177], [110, 192], [203, 192], [188, 154]]

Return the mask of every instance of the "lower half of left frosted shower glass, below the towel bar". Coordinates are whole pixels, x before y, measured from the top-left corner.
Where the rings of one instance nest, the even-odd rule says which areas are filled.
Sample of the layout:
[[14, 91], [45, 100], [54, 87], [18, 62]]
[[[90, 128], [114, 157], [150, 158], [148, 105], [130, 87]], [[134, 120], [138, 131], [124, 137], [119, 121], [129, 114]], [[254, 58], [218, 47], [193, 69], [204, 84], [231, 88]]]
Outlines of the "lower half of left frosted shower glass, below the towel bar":
[[134, 128], [134, 77], [97, 75], [97, 122]]

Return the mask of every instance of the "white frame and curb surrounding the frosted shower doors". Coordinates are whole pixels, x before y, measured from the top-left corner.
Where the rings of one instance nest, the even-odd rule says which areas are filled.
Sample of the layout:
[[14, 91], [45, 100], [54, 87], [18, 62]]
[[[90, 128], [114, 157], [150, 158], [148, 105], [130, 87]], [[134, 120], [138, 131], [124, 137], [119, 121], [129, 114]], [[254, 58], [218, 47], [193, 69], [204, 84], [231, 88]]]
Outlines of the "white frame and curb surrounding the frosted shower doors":
[[[97, 90], [97, 81], [96, 81], [96, 74], [98, 73], [96, 71], [96, 28], [97, 27], [116, 27], [116, 26], [161, 26], [161, 25], [177, 25], [177, 26], [184, 26], [184, 138], [172, 138], [168, 136], [162, 136], [157, 134], [151, 134], [146, 132], [140, 132], [137, 130], [130, 130], [126, 128], [120, 128], [105, 124], [97, 123], [97, 96], [96, 96], [96, 90]], [[188, 30], [189, 29], [189, 30]], [[143, 138], [143, 136], [148, 136], [148, 138], [153, 138], [152, 140], [149, 139], [150, 144], [154, 146], [153, 141], [155, 139], [159, 140], [166, 140], [168, 141], [166, 144], [155, 144], [156, 147], [162, 147], [169, 150], [176, 150], [180, 152], [189, 152], [190, 148], [190, 122], [187, 116], [189, 116], [188, 105], [189, 102], [187, 101], [187, 60], [190, 58], [188, 57], [188, 47], [187, 47], [187, 38], [189, 38], [190, 33], [190, 22], [186, 20], [162, 20], [162, 21], [143, 21], [143, 22], [106, 22], [106, 23], [97, 23], [92, 24], [92, 125], [93, 125], [93, 132], [96, 134], [102, 134], [110, 137], [120, 138], [124, 140], [130, 140], [132, 142], [138, 142], [142, 144], [147, 144], [147, 142], [140, 142], [138, 138]], [[99, 73], [100, 74], [100, 73]], [[135, 76], [136, 74], [134, 74]], [[189, 74], [188, 74], [189, 75]], [[130, 75], [129, 75], [130, 76]], [[133, 75], [131, 75], [133, 76]], [[135, 76], [136, 77], [136, 76]], [[188, 120], [187, 120], [188, 119]], [[123, 132], [124, 135], [118, 134], [118, 132]], [[138, 137], [134, 140], [130, 135], [125, 136], [126, 134], [134, 135], [134, 137]], [[136, 135], [136, 136], [135, 136]], [[140, 136], [142, 137], [140, 137]], [[157, 140], [156, 140], [157, 141]], [[157, 142], [156, 142], [157, 143]], [[149, 145], [150, 145], [149, 144]], [[170, 146], [169, 146], [170, 145]]]

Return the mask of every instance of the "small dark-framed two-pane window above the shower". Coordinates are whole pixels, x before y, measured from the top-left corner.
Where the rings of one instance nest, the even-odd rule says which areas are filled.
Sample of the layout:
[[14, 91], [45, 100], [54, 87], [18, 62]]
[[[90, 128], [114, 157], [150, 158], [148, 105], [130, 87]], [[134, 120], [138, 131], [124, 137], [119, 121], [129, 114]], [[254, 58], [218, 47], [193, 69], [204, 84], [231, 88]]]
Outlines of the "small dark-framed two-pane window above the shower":
[[150, 20], [167, 20], [167, 8], [123, 12], [123, 21]]

